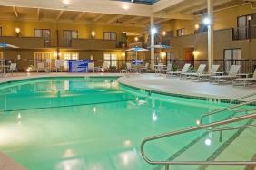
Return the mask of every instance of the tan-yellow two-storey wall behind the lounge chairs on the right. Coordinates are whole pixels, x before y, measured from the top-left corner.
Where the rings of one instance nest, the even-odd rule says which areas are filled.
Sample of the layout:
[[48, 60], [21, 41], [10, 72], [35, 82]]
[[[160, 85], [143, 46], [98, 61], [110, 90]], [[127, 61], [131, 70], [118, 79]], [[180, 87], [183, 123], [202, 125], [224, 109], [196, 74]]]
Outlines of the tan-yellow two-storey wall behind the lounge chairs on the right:
[[[256, 39], [232, 41], [232, 28], [237, 27], [237, 17], [256, 13], [250, 5], [214, 12], [214, 59], [223, 59], [223, 50], [241, 48], [243, 59], [256, 59]], [[194, 47], [198, 52], [196, 59], [207, 59], [207, 33], [194, 34], [194, 25], [202, 23], [202, 16], [196, 20], [172, 20], [161, 25], [162, 31], [172, 30], [171, 49], [176, 59], [183, 59], [184, 49]], [[185, 35], [176, 36], [176, 30], [185, 28]]]

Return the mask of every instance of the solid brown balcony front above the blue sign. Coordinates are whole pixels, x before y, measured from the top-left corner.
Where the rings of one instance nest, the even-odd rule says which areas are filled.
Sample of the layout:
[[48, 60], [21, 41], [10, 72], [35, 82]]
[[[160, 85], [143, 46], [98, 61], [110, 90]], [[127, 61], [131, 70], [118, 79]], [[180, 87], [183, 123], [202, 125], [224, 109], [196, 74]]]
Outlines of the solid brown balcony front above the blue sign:
[[73, 39], [72, 48], [82, 50], [112, 50], [116, 49], [116, 41], [101, 39]]

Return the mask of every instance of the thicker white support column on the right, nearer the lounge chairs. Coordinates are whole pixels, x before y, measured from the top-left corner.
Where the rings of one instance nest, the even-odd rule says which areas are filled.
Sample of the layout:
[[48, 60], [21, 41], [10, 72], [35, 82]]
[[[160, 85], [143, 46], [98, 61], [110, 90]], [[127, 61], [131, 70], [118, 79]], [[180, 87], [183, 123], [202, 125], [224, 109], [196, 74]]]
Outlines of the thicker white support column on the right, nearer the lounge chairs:
[[208, 67], [209, 70], [213, 64], [214, 58], [214, 39], [213, 39], [213, 0], [207, 0], [208, 17], [211, 20], [211, 24], [208, 25]]

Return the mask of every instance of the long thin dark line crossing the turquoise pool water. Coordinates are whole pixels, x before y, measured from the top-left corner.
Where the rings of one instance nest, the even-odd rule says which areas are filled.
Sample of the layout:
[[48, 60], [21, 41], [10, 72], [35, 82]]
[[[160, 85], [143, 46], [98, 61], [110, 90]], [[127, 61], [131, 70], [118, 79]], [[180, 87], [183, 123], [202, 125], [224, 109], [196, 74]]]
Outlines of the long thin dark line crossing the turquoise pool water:
[[[138, 99], [147, 99], [146, 97], [138, 98]], [[108, 104], [108, 103], [118, 103], [124, 101], [137, 101], [137, 99], [123, 99], [123, 100], [115, 100], [115, 101], [103, 101], [98, 103], [83, 103], [83, 104], [75, 104], [75, 105], [66, 105], [66, 106], [54, 106], [54, 107], [41, 107], [41, 108], [32, 108], [32, 109], [5, 109], [1, 110], [0, 113], [11, 112], [11, 111], [25, 111], [25, 110], [35, 110], [35, 109], [56, 109], [56, 108], [71, 108], [71, 107], [79, 107], [79, 106], [88, 106], [88, 105], [100, 105], [100, 104]]]

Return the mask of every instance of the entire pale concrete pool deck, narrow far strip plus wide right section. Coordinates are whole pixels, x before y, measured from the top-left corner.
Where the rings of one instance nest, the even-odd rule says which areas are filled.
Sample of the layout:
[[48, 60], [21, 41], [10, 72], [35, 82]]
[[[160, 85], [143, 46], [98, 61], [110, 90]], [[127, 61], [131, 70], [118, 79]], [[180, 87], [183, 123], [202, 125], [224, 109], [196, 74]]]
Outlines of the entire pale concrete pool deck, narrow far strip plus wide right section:
[[[14, 73], [6, 77], [0, 77], [0, 83], [10, 80], [25, 80], [43, 77], [117, 77], [119, 73]], [[210, 84], [205, 81], [180, 80], [177, 77], [156, 76], [155, 74], [131, 74], [118, 79], [122, 84], [129, 85], [143, 90], [152, 90], [166, 94], [178, 94], [183, 96], [201, 97], [207, 99], [234, 99], [240, 96], [256, 92], [256, 85], [247, 87], [231, 84]], [[255, 97], [256, 98], [256, 97]], [[250, 99], [250, 98], [249, 98]], [[245, 99], [245, 100], [249, 100]]]

